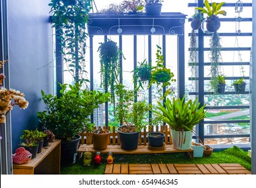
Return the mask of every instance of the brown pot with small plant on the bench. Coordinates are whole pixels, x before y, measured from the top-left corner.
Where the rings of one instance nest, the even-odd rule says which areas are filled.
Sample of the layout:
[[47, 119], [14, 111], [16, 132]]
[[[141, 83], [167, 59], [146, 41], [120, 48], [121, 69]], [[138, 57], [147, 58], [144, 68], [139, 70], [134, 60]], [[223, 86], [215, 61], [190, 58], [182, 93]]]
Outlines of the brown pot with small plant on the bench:
[[92, 130], [92, 140], [95, 150], [105, 150], [108, 147], [109, 134], [109, 130], [104, 130], [102, 128]]

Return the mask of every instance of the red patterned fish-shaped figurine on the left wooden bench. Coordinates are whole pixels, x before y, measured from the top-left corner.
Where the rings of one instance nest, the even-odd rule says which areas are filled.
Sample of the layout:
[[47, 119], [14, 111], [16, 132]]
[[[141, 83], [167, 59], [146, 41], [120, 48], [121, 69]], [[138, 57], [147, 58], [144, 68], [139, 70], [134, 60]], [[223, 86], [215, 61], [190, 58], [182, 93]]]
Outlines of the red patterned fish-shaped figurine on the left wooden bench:
[[31, 158], [32, 154], [28, 150], [25, 150], [24, 147], [17, 148], [15, 150], [15, 154], [12, 155], [13, 163], [16, 164], [27, 163], [31, 160]]

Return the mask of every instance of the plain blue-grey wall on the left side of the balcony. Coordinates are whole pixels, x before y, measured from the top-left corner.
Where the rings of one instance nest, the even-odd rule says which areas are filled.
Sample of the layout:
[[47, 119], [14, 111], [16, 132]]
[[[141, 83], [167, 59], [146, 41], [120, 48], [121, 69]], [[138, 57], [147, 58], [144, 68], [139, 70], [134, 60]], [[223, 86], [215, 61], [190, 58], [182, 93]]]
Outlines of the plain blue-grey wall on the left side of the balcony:
[[20, 144], [22, 130], [38, 126], [37, 111], [44, 109], [41, 89], [54, 91], [53, 32], [49, 23], [51, 0], [9, 0], [10, 87], [21, 91], [30, 103], [27, 109], [11, 111], [13, 150]]

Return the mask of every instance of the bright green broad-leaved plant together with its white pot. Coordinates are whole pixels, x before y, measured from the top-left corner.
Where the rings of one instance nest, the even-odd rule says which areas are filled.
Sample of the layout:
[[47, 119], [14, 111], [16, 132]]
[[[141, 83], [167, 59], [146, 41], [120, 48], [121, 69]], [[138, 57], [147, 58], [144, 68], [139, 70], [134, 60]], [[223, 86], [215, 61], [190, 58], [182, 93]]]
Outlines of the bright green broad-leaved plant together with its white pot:
[[177, 150], [190, 149], [192, 130], [205, 118], [205, 105], [200, 107], [198, 98], [195, 101], [190, 99], [186, 102], [185, 95], [182, 99], [173, 97], [172, 101], [167, 98], [164, 105], [158, 101], [158, 110], [154, 110], [154, 113], [170, 125], [173, 147]]

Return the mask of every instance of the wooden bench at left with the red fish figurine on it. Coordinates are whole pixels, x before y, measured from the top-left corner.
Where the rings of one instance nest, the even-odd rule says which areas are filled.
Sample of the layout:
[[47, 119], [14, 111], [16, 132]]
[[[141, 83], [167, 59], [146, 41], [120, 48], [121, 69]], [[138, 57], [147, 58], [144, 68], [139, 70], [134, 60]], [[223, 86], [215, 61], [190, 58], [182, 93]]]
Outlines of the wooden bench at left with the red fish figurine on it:
[[59, 175], [61, 171], [61, 140], [49, 142], [26, 164], [13, 164], [13, 175]]

